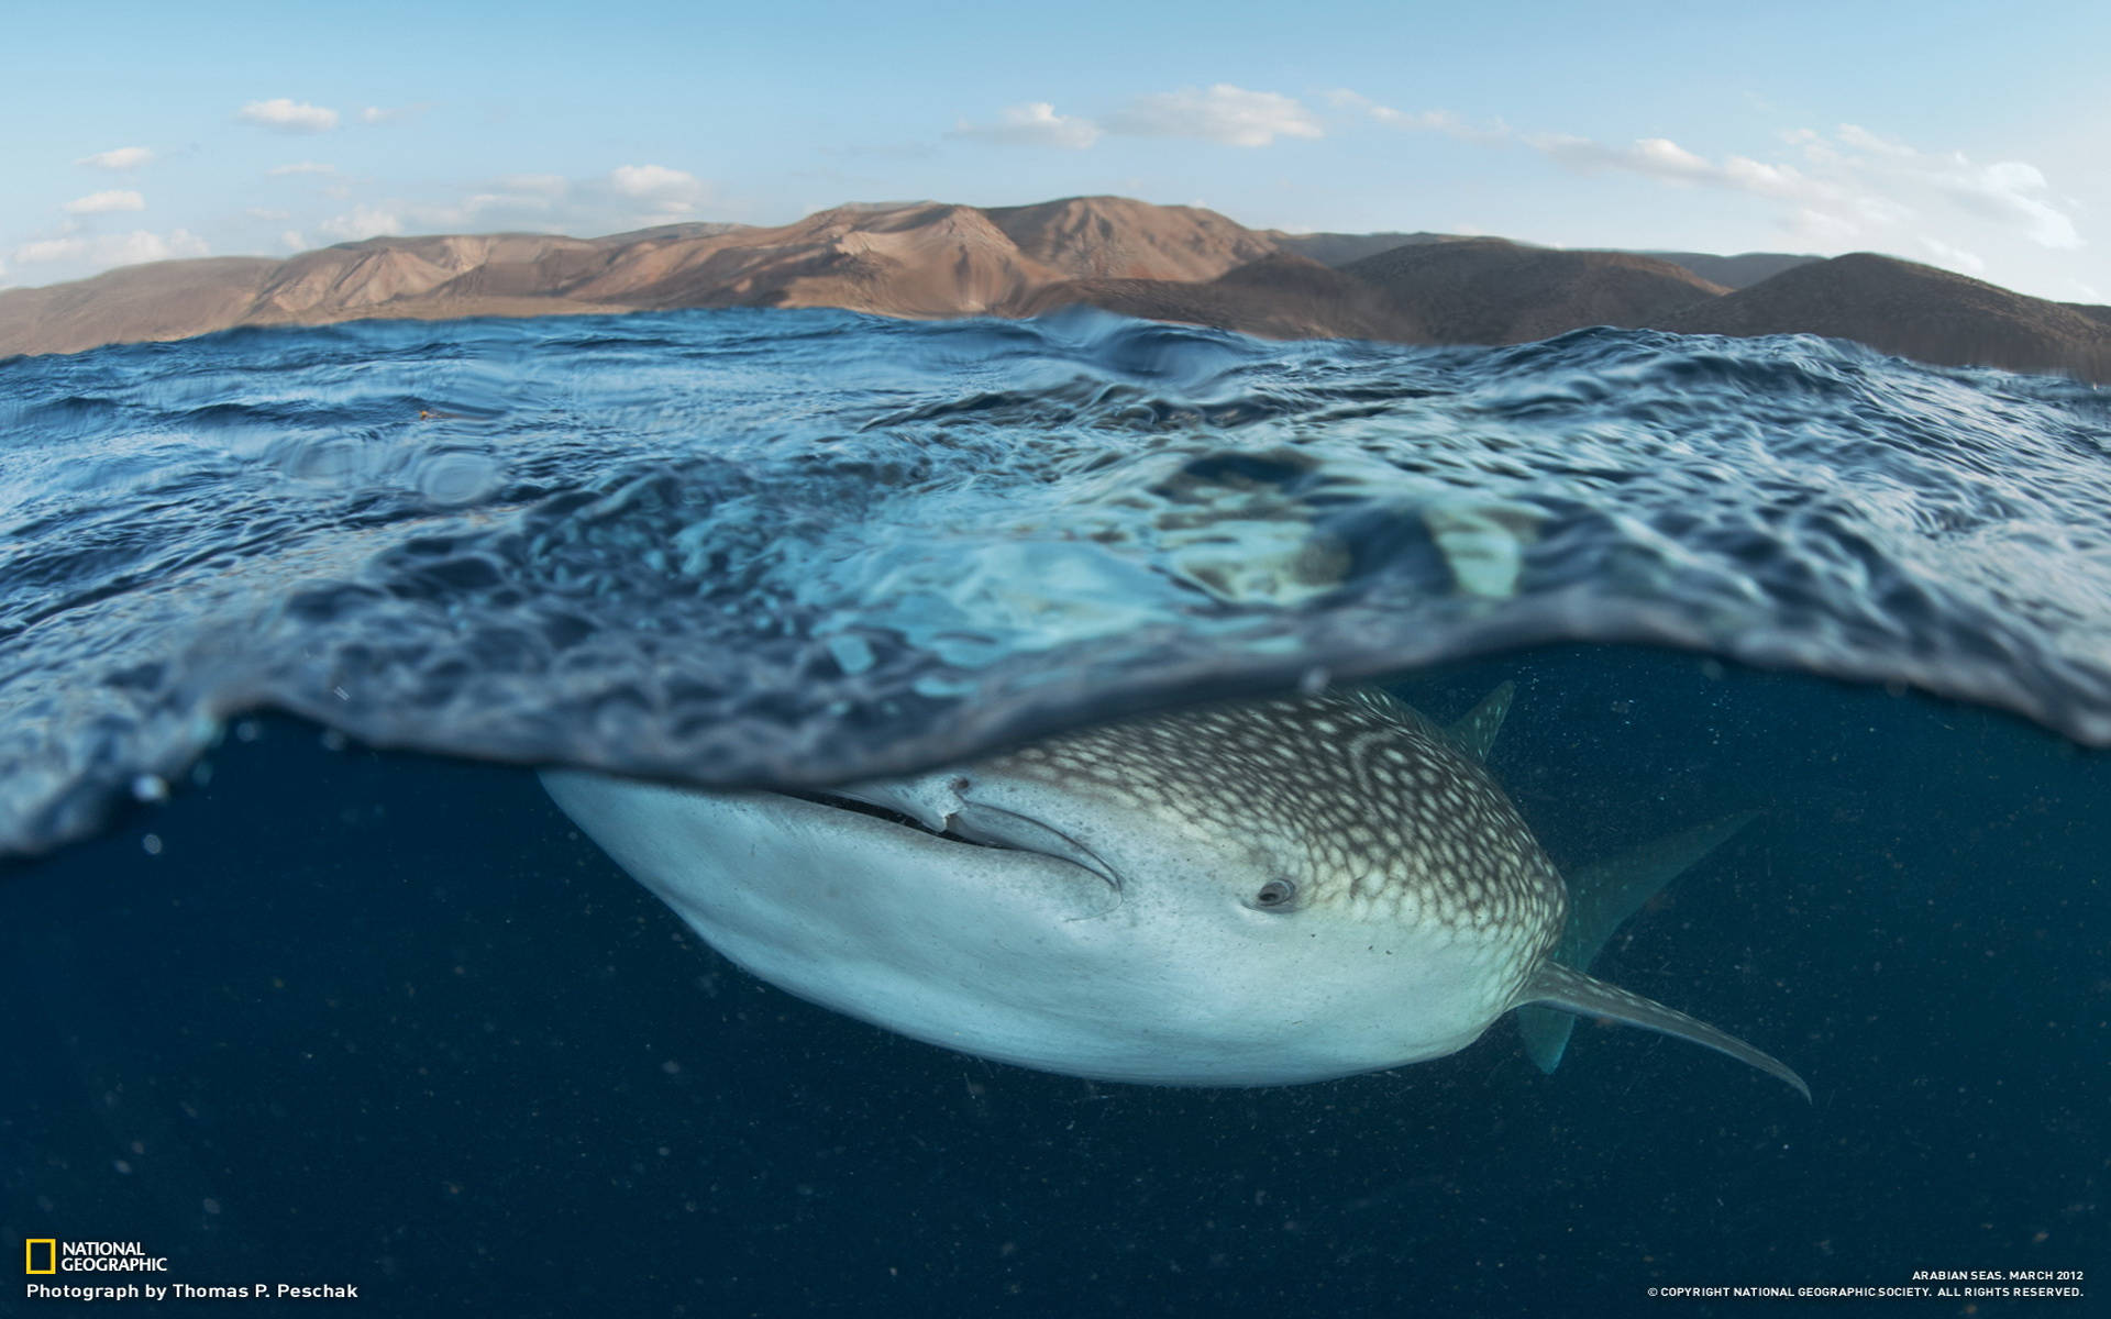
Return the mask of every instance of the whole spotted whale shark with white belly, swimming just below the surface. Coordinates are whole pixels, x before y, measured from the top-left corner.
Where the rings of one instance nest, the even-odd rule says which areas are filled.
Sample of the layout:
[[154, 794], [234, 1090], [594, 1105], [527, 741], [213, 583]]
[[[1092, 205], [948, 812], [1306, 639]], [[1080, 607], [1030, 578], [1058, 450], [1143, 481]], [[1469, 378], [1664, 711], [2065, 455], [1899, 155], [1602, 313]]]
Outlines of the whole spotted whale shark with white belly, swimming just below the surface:
[[1452, 726], [1378, 688], [1172, 709], [823, 794], [545, 770], [557, 806], [749, 973], [876, 1026], [1098, 1081], [1290, 1085], [1454, 1053], [1518, 1011], [1788, 1066], [1587, 975], [1750, 817], [1577, 872]]

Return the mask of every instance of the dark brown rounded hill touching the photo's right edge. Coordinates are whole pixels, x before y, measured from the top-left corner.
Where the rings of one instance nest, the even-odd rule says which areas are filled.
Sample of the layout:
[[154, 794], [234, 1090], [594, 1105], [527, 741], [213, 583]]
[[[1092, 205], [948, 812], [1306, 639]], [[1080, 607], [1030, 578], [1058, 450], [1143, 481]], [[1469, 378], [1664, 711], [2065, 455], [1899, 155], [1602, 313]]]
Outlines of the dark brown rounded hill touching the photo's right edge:
[[2111, 380], [2111, 308], [2012, 293], [1858, 251], [1655, 321], [1682, 333], [1822, 333], [1942, 365]]

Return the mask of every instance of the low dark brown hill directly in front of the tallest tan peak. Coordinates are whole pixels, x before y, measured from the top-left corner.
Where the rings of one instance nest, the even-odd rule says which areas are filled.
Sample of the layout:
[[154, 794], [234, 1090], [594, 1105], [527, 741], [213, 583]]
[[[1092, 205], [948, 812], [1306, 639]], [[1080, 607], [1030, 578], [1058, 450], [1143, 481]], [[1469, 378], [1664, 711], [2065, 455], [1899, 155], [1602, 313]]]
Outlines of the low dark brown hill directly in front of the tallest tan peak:
[[1205, 281], [1072, 279], [1005, 308], [1039, 317], [1060, 306], [1098, 306], [1148, 321], [1186, 321], [1273, 340], [1433, 342], [1429, 329], [1383, 289], [1319, 262], [1275, 253]]

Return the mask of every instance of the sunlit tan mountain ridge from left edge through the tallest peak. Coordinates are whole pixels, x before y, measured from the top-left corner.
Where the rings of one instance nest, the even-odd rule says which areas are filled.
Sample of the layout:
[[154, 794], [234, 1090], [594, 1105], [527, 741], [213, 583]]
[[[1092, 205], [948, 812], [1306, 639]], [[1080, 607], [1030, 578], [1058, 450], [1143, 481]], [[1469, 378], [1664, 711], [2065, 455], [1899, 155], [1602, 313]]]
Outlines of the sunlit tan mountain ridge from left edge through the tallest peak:
[[158, 262], [0, 291], [0, 352], [74, 352], [230, 325], [361, 317], [840, 306], [965, 317], [1068, 279], [1207, 281], [1273, 253], [1195, 207], [1077, 196], [1034, 207], [836, 207], [796, 224], [682, 224], [608, 238], [367, 238], [287, 262]]

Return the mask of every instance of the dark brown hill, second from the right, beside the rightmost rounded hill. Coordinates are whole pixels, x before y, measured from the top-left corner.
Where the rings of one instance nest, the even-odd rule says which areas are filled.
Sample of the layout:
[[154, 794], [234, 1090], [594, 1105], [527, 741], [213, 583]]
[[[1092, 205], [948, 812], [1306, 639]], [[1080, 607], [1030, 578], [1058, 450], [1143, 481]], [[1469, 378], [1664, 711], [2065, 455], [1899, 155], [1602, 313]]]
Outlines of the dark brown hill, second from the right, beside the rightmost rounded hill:
[[1657, 325], [1725, 293], [1723, 285], [1653, 257], [1503, 238], [1395, 247], [1343, 272], [1383, 289], [1446, 344], [1522, 344], [1583, 325]]

